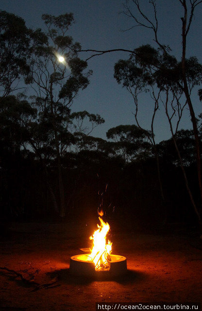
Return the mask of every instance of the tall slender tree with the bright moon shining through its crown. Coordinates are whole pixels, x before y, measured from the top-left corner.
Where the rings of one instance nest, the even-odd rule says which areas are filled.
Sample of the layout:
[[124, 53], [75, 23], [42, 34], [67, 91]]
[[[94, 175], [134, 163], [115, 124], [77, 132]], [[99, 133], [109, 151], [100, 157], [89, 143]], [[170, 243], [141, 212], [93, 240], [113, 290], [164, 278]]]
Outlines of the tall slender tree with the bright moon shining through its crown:
[[67, 35], [74, 22], [73, 14], [58, 17], [43, 15], [42, 19], [47, 27], [47, 33], [44, 34], [46, 40], [33, 49], [31, 73], [26, 83], [33, 87], [36, 93], [35, 107], [39, 110], [41, 122], [49, 125], [47, 130], [52, 135], [51, 148], [55, 152], [58, 169], [60, 216], [64, 217], [66, 205], [61, 158], [72, 139], [67, 130], [70, 106], [79, 90], [88, 86], [92, 72], [83, 72], [87, 63], [75, 52], [81, 46]]

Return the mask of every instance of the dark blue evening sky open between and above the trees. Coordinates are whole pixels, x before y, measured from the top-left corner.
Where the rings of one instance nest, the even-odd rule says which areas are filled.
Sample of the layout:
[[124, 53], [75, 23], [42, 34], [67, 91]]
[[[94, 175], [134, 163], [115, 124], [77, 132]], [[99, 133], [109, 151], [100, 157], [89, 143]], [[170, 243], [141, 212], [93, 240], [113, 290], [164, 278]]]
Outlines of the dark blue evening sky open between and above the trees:
[[[83, 49], [108, 50], [116, 48], [134, 49], [142, 44], [152, 44], [153, 34], [150, 30], [136, 27], [130, 31], [134, 23], [130, 18], [119, 14], [123, 10], [124, 0], [0, 0], [0, 9], [14, 13], [25, 19], [28, 27], [44, 28], [42, 14], [60, 15], [72, 12], [76, 23], [69, 29], [76, 41]], [[140, 0], [145, 13], [152, 14], [148, 0]], [[187, 1], [189, 2], [189, 1]], [[172, 53], [180, 59], [181, 56], [181, 19], [183, 11], [179, 0], [157, 0], [159, 17], [159, 38], [164, 44], [170, 45]], [[187, 57], [197, 56], [202, 62], [202, 5], [195, 11], [187, 41]], [[86, 53], [80, 55], [87, 58]], [[108, 53], [94, 57], [88, 61], [88, 68], [93, 69], [90, 85], [81, 91], [75, 100], [72, 110], [87, 110], [99, 113], [105, 123], [93, 132], [94, 136], [106, 138], [106, 131], [120, 124], [134, 124], [132, 112], [135, 110], [133, 99], [125, 89], [122, 89], [113, 77], [114, 64], [120, 58], [127, 58], [125, 52]], [[193, 104], [196, 115], [201, 113], [196, 87], [193, 91]], [[139, 115], [140, 124], [150, 129], [152, 104], [147, 96], [142, 96], [142, 108]], [[188, 110], [180, 128], [190, 128]], [[156, 140], [168, 139], [168, 121], [164, 108], [158, 112], [155, 122]]]

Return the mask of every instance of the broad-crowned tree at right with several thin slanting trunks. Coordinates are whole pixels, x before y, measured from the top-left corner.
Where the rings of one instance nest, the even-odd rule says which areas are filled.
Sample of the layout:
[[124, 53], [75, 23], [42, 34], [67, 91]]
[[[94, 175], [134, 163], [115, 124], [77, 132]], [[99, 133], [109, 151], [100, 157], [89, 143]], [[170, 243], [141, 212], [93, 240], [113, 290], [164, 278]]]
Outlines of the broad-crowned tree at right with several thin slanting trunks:
[[[115, 65], [115, 78], [118, 83], [132, 94], [135, 103], [135, 120], [138, 122], [137, 113], [139, 108], [139, 94], [147, 92], [153, 101], [152, 115], [152, 144], [157, 157], [157, 168], [159, 172], [158, 154], [154, 141], [153, 121], [160, 105], [163, 105], [169, 121], [170, 131], [180, 159], [181, 168], [185, 178], [185, 184], [193, 207], [200, 219], [200, 214], [190, 191], [186, 177], [181, 154], [176, 140], [176, 133], [181, 121], [187, 100], [183, 103], [183, 75], [182, 62], [178, 62], [174, 56], [165, 53], [164, 50], [154, 49], [150, 45], [135, 49], [135, 54], [129, 60], [119, 60]], [[199, 85], [202, 79], [202, 65], [195, 57], [186, 60], [186, 79], [188, 81], [189, 93], [195, 85]], [[173, 122], [175, 117], [175, 122]], [[177, 119], [177, 120], [176, 120]], [[173, 123], [176, 123], [175, 125]], [[175, 127], [175, 129], [174, 129]], [[161, 184], [161, 183], [160, 183]]]

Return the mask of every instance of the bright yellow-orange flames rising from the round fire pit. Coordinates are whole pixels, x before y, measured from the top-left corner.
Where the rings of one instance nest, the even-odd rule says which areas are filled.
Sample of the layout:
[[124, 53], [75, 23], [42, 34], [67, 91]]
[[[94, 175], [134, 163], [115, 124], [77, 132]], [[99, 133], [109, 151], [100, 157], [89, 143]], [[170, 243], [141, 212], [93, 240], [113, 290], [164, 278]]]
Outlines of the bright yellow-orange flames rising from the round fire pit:
[[101, 225], [98, 225], [98, 229], [90, 237], [90, 240], [93, 240], [90, 258], [95, 264], [96, 271], [108, 270], [110, 268], [110, 254], [112, 251], [112, 243], [110, 241], [106, 243], [106, 235], [110, 226], [101, 219], [101, 216], [103, 216], [102, 211], [99, 212], [99, 215]]

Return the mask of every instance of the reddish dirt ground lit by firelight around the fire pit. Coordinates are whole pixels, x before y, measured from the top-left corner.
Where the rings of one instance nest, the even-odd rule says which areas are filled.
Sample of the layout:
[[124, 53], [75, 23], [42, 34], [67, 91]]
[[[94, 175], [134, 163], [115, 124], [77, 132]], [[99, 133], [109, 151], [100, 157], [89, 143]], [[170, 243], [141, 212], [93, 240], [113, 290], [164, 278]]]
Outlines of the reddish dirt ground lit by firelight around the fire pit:
[[[0, 240], [0, 311], [95, 311], [96, 302], [202, 302], [202, 247], [183, 234], [116, 230], [113, 254], [127, 258], [119, 279], [69, 274], [89, 246], [92, 225], [10, 224]], [[24, 279], [22, 279], [22, 277]], [[28, 280], [28, 282], [26, 282]]]

